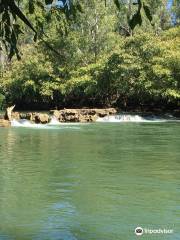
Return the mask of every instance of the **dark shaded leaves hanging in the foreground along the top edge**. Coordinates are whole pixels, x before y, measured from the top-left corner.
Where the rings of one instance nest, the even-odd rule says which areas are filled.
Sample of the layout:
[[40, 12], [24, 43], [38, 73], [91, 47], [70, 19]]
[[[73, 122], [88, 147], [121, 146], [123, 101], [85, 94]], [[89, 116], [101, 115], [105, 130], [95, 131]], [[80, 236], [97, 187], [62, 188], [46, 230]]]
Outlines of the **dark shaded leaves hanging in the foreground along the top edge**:
[[[106, 4], [106, 0], [105, 1]], [[44, 3], [40, 0], [28, 0], [28, 10], [30, 14], [35, 13], [35, 5], [41, 7], [44, 11], [47, 11], [46, 6], [53, 4], [54, 0], [44, 0]], [[62, 10], [67, 19], [76, 17], [76, 12], [83, 12], [80, 1], [78, 0], [62, 0], [62, 6], [58, 7]], [[118, 9], [121, 8], [119, 0], [114, 0]], [[137, 11], [129, 20], [129, 26], [133, 30], [136, 25], [142, 24], [141, 10], [144, 9], [146, 17], [149, 21], [152, 21], [152, 15], [150, 8], [145, 4], [143, 0], [138, 0], [132, 4], [137, 5]], [[72, 17], [71, 17], [72, 16]], [[27, 16], [21, 10], [18, 0], [0, 0], [0, 42], [5, 46], [8, 52], [9, 59], [14, 55], [20, 59], [18, 50], [19, 35], [23, 33], [21, 26], [17, 23], [20, 19], [26, 26], [28, 26], [34, 32], [34, 41], [37, 40], [38, 30], [34, 28], [32, 23], [28, 20]]]

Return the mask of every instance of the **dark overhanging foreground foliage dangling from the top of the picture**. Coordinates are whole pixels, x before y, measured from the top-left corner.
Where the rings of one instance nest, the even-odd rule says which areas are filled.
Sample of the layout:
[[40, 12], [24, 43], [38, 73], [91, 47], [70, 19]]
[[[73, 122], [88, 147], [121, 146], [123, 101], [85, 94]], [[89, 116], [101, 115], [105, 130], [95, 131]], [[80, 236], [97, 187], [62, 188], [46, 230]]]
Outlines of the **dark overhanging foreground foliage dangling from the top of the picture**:
[[[91, 0], [94, 3], [93, 0]], [[11, 59], [13, 55], [16, 54], [17, 58], [20, 59], [20, 53], [18, 50], [18, 39], [19, 35], [23, 33], [22, 26], [19, 21], [22, 21], [26, 26], [28, 26], [34, 32], [34, 40], [37, 40], [37, 35], [39, 34], [39, 29], [43, 29], [43, 21], [39, 21], [36, 17], [36, 8], [40, 8], [43, 11], [43, 17], [45, 22], [51, 18], [51, 14], [58, 12], [64, 14], [68, 20], [76, 18], [77, 12], [83, 12], [82, 5], [78, 0], [62, 0], [61, 4], [56, 4], [54, 0], [26, 0], [20, 3], [19, 0], [1, 0], [0, 1], [0, 40], [1, 48], [3, 46], [9, 52], [9, 58]], [[106, 4], [105, 0], [102, 0], [103, 4]], [[114, 1], [116, 6], [120, 9], [119, 0]], [[149, 6], [144, 0], [138, 0], [133, 3], [137, 5], [137, 10], [129, 19], [129, 26], [131, 29], [134, 29], [137, 24], [142, 24], [141, 10], [144, 9], [146, 17], [149, 21], [152, 21], [152, 15], [150, 12]], [[48, 6], [50, 5], [49, 9]], [[33, 23], [29, 20], [28, 14], [25, 14], [24, 11], [28, 9], [29, 14], [32, 14], [36, 19], [36, 27], [33, 26]], [[41, 36], [42, 31], [40, 32]], [[3, 45], [3, 46], [2, 46]]]

